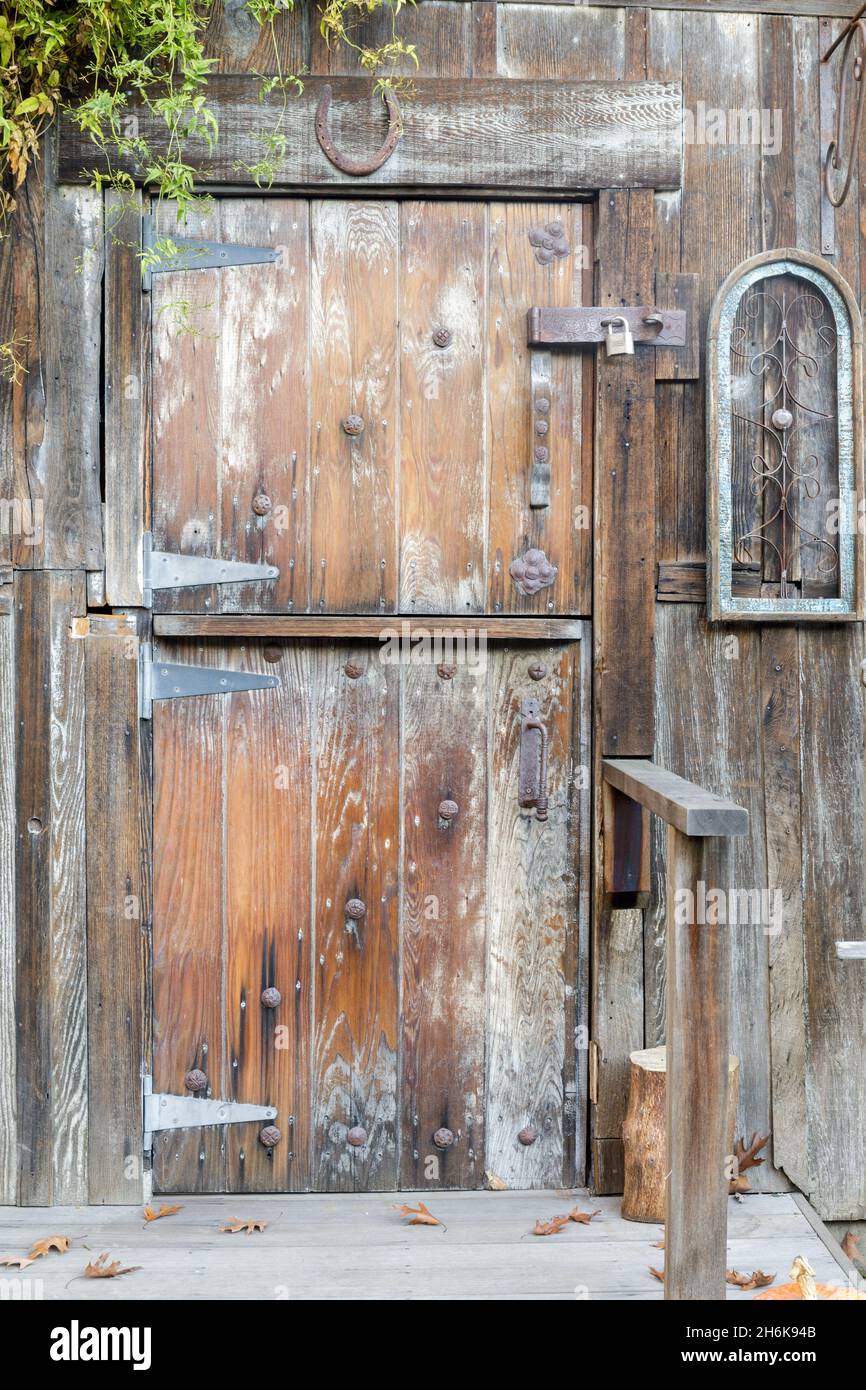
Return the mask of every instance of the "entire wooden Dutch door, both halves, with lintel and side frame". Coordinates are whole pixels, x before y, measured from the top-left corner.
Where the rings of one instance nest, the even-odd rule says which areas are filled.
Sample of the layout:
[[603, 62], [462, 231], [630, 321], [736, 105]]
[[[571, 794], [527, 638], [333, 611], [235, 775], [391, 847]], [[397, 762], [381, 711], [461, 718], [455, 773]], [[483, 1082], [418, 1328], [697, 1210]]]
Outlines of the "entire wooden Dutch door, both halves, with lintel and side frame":
[[122, 235], [107, 271], [108, 459], [147, 441], [143, 505], [108, 463], [106, 582], [153, 612], [154, 1188], [573, 1184], [592, 759], [652, 755], [680, 93], [418, 81], [370, 174], [338, 147], [381, 103], [343, 81], [322, 125], [329, 90], [289, 107], [284, 192], [222, 196], [229, 139], [185, 227], [142, 200], [140, 302]]

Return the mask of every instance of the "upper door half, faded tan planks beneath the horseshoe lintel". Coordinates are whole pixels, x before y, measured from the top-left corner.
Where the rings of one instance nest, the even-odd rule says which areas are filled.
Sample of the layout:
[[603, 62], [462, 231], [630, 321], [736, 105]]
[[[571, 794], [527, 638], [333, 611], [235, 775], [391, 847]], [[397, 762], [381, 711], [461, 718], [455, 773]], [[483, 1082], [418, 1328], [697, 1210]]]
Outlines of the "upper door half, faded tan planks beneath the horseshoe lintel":
[[588, 613], [592, 364], [530, 350], [527, 311], [587, 302], [589, 227], [580, 203], [190, 217], [185, 235], [281, 256], [153, 278], [154, 546], [279, 578], [156, 607]]

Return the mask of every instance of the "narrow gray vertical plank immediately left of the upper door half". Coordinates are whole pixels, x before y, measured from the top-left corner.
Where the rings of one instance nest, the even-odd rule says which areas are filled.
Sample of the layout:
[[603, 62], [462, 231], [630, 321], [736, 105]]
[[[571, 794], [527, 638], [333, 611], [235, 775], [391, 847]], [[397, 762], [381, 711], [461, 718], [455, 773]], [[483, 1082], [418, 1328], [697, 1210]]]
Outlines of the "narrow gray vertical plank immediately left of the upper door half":
[[149, 464], [149, 318], [142, 303], [142, 199], [106, 193], [106, 600], [140, 607]]

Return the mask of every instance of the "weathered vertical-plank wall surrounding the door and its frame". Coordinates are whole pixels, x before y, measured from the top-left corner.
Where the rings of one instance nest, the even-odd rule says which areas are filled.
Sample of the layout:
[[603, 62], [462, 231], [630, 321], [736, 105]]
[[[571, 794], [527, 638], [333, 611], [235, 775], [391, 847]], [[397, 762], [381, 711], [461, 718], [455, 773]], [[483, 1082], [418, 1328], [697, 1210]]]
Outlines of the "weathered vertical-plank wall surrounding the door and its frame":
[[[655, 7], [421, 0], [400, 17], [400, 29], [417, 43], [425, 75], [666, 78], [683, 81], [692, 110], [698, 103], [778, 110], [777, 153], [689, 143], [684, 190], [655, 200], [656, 268], [698, 277], [703, 331], [719, 284], [740, 260], [771, 246], [820, 249], [819, 54], [838, 28], [826, 17], [853, 8], [847, 0], [741, 0], [738, 13], [703, 0]], [[370, 32], [379, 31], [373, 21]], [[240, 0], [218, 7], [209, 46], [222, 71], [274, 65], [270, 39]], [[350, 54], [327, 51], [307, 4], [281, 21], [278, 50], [284, 71], [353, 71]], [[855, 182], [837, 214], [833, 259], [858, 295], [866, 252], [860, 206]], [[28, 368], [17, 384], [0, 384], [0, 499], [36, 518], [10, 534], [6, 517], [0, 534], [0, 1201], [7, 1202], [81, 1201], [88, 1190], [92, 1200], [122, 1200], [99, 1176], [99, 1144], [88, 1188], [88, 1111], [101, 1133], [111, 1091], [101, 1061], [85, 1084], [85, 980], [90, 1045], [104, 1048], [110, 980], [101, 954], [115, 909], [100, 897], [111, 866], [100, 865], [93, 848], [88, 894], [82, 878], [85, 790], [92, 798], [85, 809], [96, 815], [106, 774], [86, 766], [81, 703], [85, 678], [95, 698], [111, 701], [120, 677], [117, 652], [104, 648], [111, 634], [99, 638], [93, 674], [90, 653], [85, 663], [65, 637], [68, 620], [83, 612], [85, 585], [99, 602], [103, 569], [103, 220], [97, 195], [54, 185], [49, 157], [28, 179], [13, 235], [0, 246], [0, 339], [25, 342]], [[117, 334], [114, 318], [104, 327]], [[702, 562], [702, 382], [659, 382], [655, 406], [656, 557]], [[118, 534], [122, 518], [108, 516], [107, 543]], [[773, 1163], [756, 1170], [756, 1186], [791, 1180], [823, 1215], [863, 1216], [866, 988], [862, 965], [834, 956], [834, 941], [862, 935], [865, 919], [862, 628], [708, 630], [699, 603], [663, 602], [655, 652], [657, 760], [749, 806], [737, 883], [778, 888], [785, 902], [781, 933], [737, 929], [735, 940], [738, 1129], [773, 1130]], [[125, 727], [121, 719], [115, 733], [129, 766]], [[125, 881], [136, 873], [131, 866]], [[617, 1188], [628, 1052], [662, 1036], [660, 835], [653, 884], [645, 913], [603, 913], [594, 929], [599, 1065], [591, 1156], [601, 1190]], [[146, 920], [145, 888], [142, 899]], [[133, 942], [128, 959], [135, 966]], [[140, 1044], [128, 1017], [114, 1022], [122, 1036], [111, 1033], [120, 1047], [111, 1066], [120, 1074], [135, 1068]], [[114, 1155], [128, 1150], [124, 1123], [118, 1119], [108, 1144]]]

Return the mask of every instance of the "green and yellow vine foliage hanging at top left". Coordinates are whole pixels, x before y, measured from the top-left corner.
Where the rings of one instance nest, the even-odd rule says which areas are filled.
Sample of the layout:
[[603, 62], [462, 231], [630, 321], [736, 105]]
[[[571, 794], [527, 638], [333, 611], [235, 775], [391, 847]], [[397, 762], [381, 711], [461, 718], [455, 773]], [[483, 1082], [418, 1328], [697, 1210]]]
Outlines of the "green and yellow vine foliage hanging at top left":
[[[132, 178], [113, 168], [132, 158], [143, 182], [158, 197], [177, 203], [182, 220], [196, 199], [196, 168], [186, 158], [190, 138], [213, 150], [220, 139], [207, 104], [214, 67], [204, 36], [214, 0], [0, 0], [0, 235], [15, 206], [15, 189], [39, 157], [39, 140], [63, 110], [70, 111], [108, 164], [92, 183], [132, 188]], [[303, 74], [284, 74], [275, 25], [296, 0], [247, 0], [247, 8], [272, 39], [271, 71], [263, 95], [279, 90], [275, 126], [260, 132], [260, 157], [243, 170], [260, 186], [272, 182], [285, 154], [282, 122], [288, 100], [303, 90]], [[300, 3], [300, 0], [297, 0]], [[396, 32], [396, 17], [416, 0], [307, 0], [328, 43], [348, 44], [377, 86], [392, 85], [396, 65], [417, 63], [414, 47]], [[359, 38], [375, 11], [389, 13], [388, 39], [378, 47]], [[129, 118], [132, 101], [145, 103], [165, 125], [167, 139], [154, 152]]]

